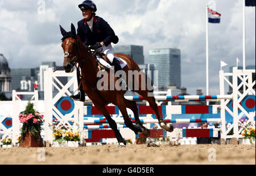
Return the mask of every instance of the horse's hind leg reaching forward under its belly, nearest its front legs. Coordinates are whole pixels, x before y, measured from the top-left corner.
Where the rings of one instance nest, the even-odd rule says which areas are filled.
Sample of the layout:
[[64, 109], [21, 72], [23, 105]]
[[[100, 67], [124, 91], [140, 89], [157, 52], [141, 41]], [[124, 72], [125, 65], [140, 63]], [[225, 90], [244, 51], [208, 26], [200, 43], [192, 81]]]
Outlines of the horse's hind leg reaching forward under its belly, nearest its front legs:
[[141, 123], [141, 120], [139, 120], [139, 112], [138, 112], [138, 107], [137, 107], [136, 102], [134, 102], [132, 100], [125, 99], [125, 104], [126, 104], [127, 108], [129, 108], [131, 111], [133, 111], [134, 118], [135, 118], [135, 124], [137, 125], [137, 127], [142, 128], [142, 134], [145, 137], [150, 136], [150, 131], [147, 128], [145, 128], [143, 126], [143, 124]]

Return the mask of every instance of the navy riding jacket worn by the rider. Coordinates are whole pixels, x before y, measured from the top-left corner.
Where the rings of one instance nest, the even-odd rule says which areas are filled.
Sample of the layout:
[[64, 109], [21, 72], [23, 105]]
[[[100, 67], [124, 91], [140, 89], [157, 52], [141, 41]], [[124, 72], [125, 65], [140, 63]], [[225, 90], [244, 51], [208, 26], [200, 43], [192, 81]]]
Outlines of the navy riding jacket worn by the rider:
[[90, 31], [85, 19], [80, 20], [77, 26], [77, 35], [84, 45], [94, 45], [101, 41], [104, 42], [105, 46], [108, 46], [110, 43], [118, 43], [118, 37], [115, 35], [113, 29], [100, 16], [93, 16], [92, 31]]

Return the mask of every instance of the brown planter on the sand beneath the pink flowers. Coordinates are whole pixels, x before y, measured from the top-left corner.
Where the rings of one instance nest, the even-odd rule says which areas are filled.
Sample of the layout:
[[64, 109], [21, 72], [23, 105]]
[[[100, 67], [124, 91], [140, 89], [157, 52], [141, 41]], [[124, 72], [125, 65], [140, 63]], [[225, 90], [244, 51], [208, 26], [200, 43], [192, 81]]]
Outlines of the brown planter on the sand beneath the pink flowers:
[[24, 137], [22, 137], [22, 139], [20, 140], [19, 143], [19, 147], [21, 148], [26, 148], [26, 147], [43, 147], [43, 140], [42, 137], [40, 135], [40, 133], [38, 133], [38, 136], [40, 137], [40, 141], [38, 143], [38, 141], [36, 141], [36, 137], [30, 135], [29, 133], [26, 133], [24, 135]]

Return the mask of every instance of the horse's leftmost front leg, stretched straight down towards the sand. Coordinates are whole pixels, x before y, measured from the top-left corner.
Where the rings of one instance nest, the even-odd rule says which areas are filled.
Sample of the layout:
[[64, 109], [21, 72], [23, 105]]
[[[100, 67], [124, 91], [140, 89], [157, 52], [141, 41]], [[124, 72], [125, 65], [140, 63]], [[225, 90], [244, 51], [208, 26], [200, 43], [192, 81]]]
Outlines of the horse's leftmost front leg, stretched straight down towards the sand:
[[119, 146], [123, 146], [122, 143], [124, 145], [126, 145], [126, 141], [125, 139], [123, 139], [121, 133], [118, 131], [117, 129], [117, 123], [115, 123], [115, 121], [111, 118], [109, 112], [106, 110], [105, 105], [103, 104], [98, 104], [96, 102], [94, 102], [94, 106], [101, 111], [101, 113], [105, 116], [106, 120], [108, 120], [109, 126], [111, 129], [113, 129], [114, 133], [115, 133], [115, 137], [117, 138], [117, 141], [119, 143]]

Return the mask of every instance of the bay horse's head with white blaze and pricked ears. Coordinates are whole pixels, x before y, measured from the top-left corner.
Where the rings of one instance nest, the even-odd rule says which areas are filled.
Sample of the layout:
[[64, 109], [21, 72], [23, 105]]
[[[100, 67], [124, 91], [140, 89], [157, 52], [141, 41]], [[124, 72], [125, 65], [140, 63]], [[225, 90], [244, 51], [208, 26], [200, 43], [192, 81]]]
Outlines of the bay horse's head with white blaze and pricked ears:
[[79, 52], [79, 41], [76, 35], [76, 28], [71, 24], [71, 32], [66, 32], [60, 26], [61, 34], [63, 35], [61, 47], [64, 51], [63, 68], [66, 73], [73, 72], [73, 67], [77, 62], [77, 54]]

